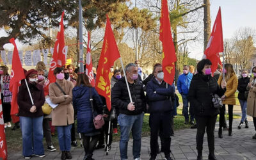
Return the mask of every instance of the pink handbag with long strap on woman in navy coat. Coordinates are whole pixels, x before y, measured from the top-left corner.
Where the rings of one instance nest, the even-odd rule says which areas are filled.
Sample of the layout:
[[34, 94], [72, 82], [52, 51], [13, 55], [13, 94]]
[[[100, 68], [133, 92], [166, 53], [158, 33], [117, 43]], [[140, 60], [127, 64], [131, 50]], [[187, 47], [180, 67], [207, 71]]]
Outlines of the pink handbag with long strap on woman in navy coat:
[[92, 90], [91, 90], [91, 88], [89, 88], [89, 93], [90, 93], [90, 103], [91, 103], [91, 107], [92, 107], [93, 124], [94, 124], [95, 129], [101, 129], [102, 126], [105, 124], [104, 117], [103, 117], [102, 114], [99, 114], [97, 116], [94, 115]]

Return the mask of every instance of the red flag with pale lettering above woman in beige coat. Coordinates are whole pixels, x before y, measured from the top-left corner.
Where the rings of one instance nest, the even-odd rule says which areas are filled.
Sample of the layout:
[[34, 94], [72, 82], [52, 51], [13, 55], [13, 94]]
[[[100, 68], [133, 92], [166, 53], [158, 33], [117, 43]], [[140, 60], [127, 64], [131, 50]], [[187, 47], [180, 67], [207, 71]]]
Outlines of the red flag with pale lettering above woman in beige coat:
[[[52, 54], [52, 60], [49, 68], [48, 79], [50, 83], [54, 83], [56, 81], [56, 77], [53, 74], [54, 69], [56, 67], [62, 67], [63, 65], [65, 65], [65, 40], [64, 40], [63, 17], [64, 17], [64, 12], [62, 12], [62, 15], [61, 15], [60, 31], [58, 31], [57, 40], [54, 44], [54, 51]], [[49, 87], [49, 84], [45, 87]]]

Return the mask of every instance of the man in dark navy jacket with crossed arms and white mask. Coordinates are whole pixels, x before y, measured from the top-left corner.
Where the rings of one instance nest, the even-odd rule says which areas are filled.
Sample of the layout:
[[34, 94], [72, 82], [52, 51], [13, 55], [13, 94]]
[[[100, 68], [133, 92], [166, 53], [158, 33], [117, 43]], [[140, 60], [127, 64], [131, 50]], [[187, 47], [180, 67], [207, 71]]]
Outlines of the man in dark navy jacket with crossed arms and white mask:
[[171, 160], [171, 120], [172, 120], [172, 97], [174, 97], [175, 87], [164, 81], [162, 65], [154, 66], [154, 77], [147, 83], [147, 99], [149, 125], [150, 125], [150, 160], [156, 159], [158, 133], [161, 132], [162, 150], [165, 159]]

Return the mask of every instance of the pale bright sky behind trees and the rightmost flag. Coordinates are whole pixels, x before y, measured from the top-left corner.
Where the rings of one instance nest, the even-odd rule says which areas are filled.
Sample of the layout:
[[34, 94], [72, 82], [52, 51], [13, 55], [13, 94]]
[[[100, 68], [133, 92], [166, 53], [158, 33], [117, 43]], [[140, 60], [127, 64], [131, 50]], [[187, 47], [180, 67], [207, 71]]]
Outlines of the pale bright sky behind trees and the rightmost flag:
[[[134, 0], [131, 0], [134, 2]], [[143, 0], [137, 0], [143, 1]], [[256, 29], [256, 0], [210, 0], [211, 2], [211, 26], [218, 13], [219, 6], [221, 6], [223, 39], [232, 38], [237, 29], [241, 27], [250, 27]], [[204, 17], [202, 17], [202, 20]], [[204, 26], [202, 26], [204, 27]], [[204, 34], [204, 33], [202, 33]], [[3, 31], [0, 30], [0, 36], [4, 36]], [[22, 44], [17, 42], [18, 49]], [[11, 44], [4, 45], [5, 49], [12, 49]], [[203, 56], [204, 42], [189, 47], [190, 58], [200, 60]]]

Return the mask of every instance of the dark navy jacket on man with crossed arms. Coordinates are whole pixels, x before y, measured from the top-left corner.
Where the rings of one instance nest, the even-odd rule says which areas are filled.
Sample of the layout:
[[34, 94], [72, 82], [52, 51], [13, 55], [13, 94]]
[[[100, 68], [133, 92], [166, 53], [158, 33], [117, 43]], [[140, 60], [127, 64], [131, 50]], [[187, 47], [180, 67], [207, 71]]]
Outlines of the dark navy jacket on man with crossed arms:
[[147, 83], [147, 100], [149, 113], [166, 113], [173, 110], [172, 97], [174, 97], [175, 86], [163, 81], [161, 84], [157, 83], [156, 78], [152, 78]]

